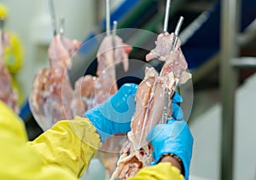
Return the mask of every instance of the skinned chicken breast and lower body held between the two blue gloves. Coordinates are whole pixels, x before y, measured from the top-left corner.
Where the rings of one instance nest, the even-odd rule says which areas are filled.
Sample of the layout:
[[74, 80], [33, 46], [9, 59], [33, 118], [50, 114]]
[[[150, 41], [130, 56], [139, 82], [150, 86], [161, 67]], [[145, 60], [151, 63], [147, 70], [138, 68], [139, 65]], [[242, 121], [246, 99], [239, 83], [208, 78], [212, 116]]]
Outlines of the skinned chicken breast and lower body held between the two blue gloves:
[[132, 177], [139, 169], [152, 162], [153, 149], [146, 141], [146, 136], [154, 125], [159, 124], [164, 108], [165, 89], [173, 83], [173, 73], [160, 77], [154, 67], [146, 67], [145, 78], [137, 89], [136, 111], [131, 119], [131, 131], [128, 132], [129, 142], [125, 143], [111, 179]]

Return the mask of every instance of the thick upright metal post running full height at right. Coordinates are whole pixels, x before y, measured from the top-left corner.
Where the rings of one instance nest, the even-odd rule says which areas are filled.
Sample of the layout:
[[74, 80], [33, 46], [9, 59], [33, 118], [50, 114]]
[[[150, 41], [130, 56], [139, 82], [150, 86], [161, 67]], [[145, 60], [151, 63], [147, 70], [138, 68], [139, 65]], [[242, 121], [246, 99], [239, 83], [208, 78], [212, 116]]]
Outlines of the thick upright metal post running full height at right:
[[221, 1], [220, 92], [222, 105], [221, 180], [233, 179], [236, 68], [231, 61], [238, 55], [240, 0]]

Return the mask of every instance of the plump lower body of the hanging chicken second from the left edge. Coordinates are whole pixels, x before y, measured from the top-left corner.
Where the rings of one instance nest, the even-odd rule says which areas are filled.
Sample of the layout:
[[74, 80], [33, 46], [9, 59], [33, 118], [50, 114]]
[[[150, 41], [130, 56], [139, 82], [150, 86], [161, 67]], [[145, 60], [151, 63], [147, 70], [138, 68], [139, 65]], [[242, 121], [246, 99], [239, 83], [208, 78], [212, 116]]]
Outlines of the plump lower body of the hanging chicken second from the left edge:
[[61, 119], [73, 119], [72, 99], [67, 73], [44, 68], [35, 76], [29, 102], [34, 118], [44, 131]]

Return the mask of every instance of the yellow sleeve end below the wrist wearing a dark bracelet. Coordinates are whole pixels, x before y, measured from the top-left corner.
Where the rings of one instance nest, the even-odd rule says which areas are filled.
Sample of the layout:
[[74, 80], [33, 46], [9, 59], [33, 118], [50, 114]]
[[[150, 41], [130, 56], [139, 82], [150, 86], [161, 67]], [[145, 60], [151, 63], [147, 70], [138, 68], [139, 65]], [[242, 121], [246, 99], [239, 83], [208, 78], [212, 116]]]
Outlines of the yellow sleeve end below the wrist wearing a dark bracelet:
[[137, 172], [135, 177], [127, 180], [184, 180], [183, 175], [169, 162], [162, 162], [157, 165], [144, 167]]

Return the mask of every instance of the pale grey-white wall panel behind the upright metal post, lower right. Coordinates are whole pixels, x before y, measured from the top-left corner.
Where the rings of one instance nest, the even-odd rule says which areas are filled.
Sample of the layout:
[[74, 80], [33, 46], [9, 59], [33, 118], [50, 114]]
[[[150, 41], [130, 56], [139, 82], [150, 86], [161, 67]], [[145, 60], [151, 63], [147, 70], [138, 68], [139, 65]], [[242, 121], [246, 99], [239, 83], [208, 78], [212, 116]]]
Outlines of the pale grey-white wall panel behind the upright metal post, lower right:
[[[256, 73], [236, 90], [234, 180], [252, 180], [256, 173]], [[205, 98], [211, 98], [205, 96]], [[204, 105], [202, 105], [204, 106]], [[216, 103], [190, 124], [194, 149], [190, 174], [218, 180], [221, 155], [221, 107]]]

